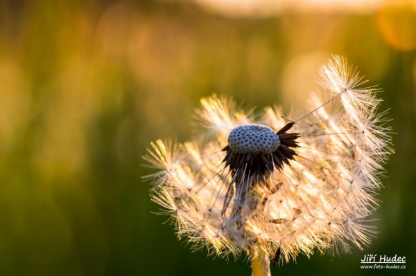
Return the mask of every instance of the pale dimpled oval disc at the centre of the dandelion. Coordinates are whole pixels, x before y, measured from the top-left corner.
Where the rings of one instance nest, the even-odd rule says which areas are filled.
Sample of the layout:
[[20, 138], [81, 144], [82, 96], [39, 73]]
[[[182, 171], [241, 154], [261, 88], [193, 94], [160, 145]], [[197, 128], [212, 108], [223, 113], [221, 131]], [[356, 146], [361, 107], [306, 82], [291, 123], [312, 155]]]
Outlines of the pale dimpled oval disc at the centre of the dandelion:
[[279, 136], [262, 125], [243, 125], [228, 136], [229, 147], [238, 154], [271, 154], [280, 145]]

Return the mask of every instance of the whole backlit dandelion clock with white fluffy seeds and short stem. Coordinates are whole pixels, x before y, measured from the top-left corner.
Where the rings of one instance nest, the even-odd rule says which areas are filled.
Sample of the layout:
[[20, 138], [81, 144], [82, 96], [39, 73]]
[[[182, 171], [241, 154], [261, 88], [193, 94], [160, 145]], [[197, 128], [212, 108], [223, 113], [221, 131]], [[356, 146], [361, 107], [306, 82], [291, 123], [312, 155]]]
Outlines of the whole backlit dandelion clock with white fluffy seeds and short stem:
[[304, 116], [271, 107], [254, 116], [212, 95], [198, 111], [208, 138], [151, 144], [152, 199], [178, 237], [220, 257], [247, 254], [253, 275], [270, 275], [270, 259], [371, 243], [376, 229], [365, 223], [392, 153], [389, 120], [345, 59], [330, 59], [320, 80], [324, 97], [313, 94]]

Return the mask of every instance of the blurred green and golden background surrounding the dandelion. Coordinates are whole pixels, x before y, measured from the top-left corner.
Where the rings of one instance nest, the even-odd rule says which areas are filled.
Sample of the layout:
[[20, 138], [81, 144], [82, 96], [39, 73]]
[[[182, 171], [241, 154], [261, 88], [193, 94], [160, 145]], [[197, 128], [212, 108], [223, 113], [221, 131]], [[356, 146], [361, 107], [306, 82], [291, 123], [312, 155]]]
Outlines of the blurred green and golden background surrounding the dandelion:
[[[0, 275], [250, 275], [177, 241], [141, 176], [187, 140], [199, 99], [296, 107], [343, 55], [379, 84], [397, 135], [380, 234], [273, 275], [415, 275], [415, 1], [1, 1]], [[406, 270], [363, 270], [365, 254]]]

